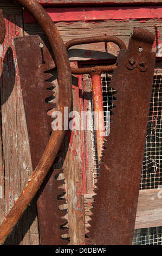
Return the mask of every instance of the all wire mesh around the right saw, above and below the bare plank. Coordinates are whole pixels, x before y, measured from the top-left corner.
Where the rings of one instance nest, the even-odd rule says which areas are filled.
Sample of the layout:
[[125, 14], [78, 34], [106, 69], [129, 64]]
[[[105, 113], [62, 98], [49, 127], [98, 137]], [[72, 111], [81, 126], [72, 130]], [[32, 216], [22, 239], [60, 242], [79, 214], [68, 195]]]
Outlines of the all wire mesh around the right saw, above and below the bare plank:
[[[115, 93], [109, 86], [111, 74], [102, 74], [102, 96], [103, 112], [107, 113], [115, 107]], [[150, 112], [147, 125], [144, 161], [142, 164], [140, 190], [159, 188], [162, 185], [162, 160], [161, 160], [161, 138], [162, 138], [162, 75], [154, 75]], [[92, 102], [93, 106], [93, 102]], [[96, 138], [93, 134], [93, 157], [94, 174], [98, 173], [98, 155], [96, 150]], [[135, 229], [133, 245], [162, 245], [162, 227]]]

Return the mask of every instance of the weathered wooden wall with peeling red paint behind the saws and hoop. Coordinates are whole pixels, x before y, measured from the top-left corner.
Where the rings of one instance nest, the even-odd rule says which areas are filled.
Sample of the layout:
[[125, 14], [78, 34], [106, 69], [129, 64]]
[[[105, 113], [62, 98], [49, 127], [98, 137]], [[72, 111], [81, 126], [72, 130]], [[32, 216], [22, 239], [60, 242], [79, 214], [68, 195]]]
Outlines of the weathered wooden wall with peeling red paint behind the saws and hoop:
[[[42, 3], [55, 3], [58, 1], [39, 1]], [[75, 1], [63, 1], [74, 3]], [[117, 1], [93, 1], [94, 3], [116, 4]], [[126, 1], [118, 1], [121, 4]], [[145, 1], [127, 1], [141, 4]], [[157, 1], [146, 1], [156, 4]], [[158, 1], [161, 4], [162, 1]], [[59, 2], [60, 3], [60, 2]], [[77, 1], [77, 5], [90, 1]], [[60, 3], [61, 4], [61, 3]], [[61, 5], [60, 5], [61, 6]], [[2, 0], [0, 8], [4, 10], [7, 34], [3, 44], [3, 57], [1, 58], [1, 145], [0, 145], [0, 185], [3, 195], [0, 198], [0, 222], [9, 212], [16, 201], [29, 176], [33, 172], [27, 126], [23, 108], [18, 64], [14, 48], [15, 36], [28, 36], [42, 34], [41, 28], [36, 23], [25, 23], [24, 13], [20, 5], [10, 0]], [[128, 44], [129, 36], [134, 27], [144, 27], [155, 34], [153, 51], [161, 43], [161, 18], [152, 20], [128, 19], [127, 21], [95, 20], [92, 21], [55, 21], [64, 42], [70, 39], [93, 35], [116, 35]], [[155, 27], [159, 25], [159, 27]], [[104, 43], [93, 45], [75, 46], [69, 50], [71, 65], [77, 66], [82, 61], [89, 59], [115, 58], [118, 47]], [[158, 56], [157, 56], [158, 57]], [[160, 69], [161, 63], [157, 63]], [[92, 90], [89, 77], [73, 76], [73, 109], [92, 110]], [[65, 138], [63, 155], [64, 177], [66, 182], [66, 197], [68, 199], [68, 227], [72, 245], [84, 243], [85, 222], [89, 218], [89, 204], [93, 193], [95, 176], [93, 174], [93, 137], [92, 132], [72, 131], [70, 138]], [[68, 144], [68, 141], [69, 144]], [[140, 192], [137, 221], [135, 228], [154, 227], [162, 224], [161, 200], [157, 197], [159, 191]], [[155, 200], [152, 200], [154, 198]], [[85, 202], [84, 202], [85, 199]], [[152, 205], [152, 202], [154, 204]], [[150, 205], [148, 208], [148, 205]], [[85, 210], [86, 209], [86, 210]], [[86, 221], [85, 221], [86, 214]], [[145, 216], [145, 217], [144, 217]], [[87, 224], [86, 224], [87, 227]], [[7, 244], [11, 245], [38, 245], [38, 220], [35, 199], [25, 212], [22, 220], [9, 237]]]

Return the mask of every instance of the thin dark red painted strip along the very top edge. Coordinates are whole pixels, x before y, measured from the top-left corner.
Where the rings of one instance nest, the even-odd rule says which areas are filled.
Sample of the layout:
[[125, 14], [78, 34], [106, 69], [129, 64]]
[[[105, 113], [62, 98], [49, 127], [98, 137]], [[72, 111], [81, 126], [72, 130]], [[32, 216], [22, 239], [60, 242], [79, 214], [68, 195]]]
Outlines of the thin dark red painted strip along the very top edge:
[[162, 0], [38, 0], [43, 5], [154, 5]]

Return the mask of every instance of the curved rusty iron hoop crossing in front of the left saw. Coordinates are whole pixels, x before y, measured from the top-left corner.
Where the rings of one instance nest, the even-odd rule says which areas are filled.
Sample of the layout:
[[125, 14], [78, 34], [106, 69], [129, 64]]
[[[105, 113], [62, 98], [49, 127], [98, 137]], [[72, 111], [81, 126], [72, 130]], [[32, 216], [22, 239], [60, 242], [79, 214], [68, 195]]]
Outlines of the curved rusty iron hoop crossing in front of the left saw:
[[[54, 22], [50, 19], [46, 10], [44, 10], [36, 0], [17, 1], [22, 4], [22, 6], [25, 7], [31, 15], [33, 15], [34, 19], [42, 27], [50, 43], [51, 49], [53, 50], [59, 77], [59, 102], [57, 110], [60, 111], [63, 116], [64, 106], [68, 107], [70, 111], [72, 101], [72, 75], [66, 48], [63, 44], [59, 31], [54, 25]], [[64, 135], [64, 130], [57, 130], [51, 133], [49, 143], [40, 159], [40, 162], [33, 174], [30, 176], [27, 185], [20, 194], [15, 205], [4, 218], [0, 227], [0, 245], [3, 245], [8, 235], [14, 229], [15, 225], [20, 220], [24, 211], [27, 209], [31, 200], [35, 197], [37, 191], [42, 185], [61, 147]]]

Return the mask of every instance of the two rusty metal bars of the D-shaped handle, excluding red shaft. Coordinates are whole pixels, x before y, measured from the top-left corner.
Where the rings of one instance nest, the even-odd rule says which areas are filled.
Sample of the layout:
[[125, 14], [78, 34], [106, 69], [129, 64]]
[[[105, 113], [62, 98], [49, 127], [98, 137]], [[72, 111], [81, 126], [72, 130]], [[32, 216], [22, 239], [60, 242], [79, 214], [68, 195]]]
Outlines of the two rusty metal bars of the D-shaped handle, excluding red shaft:
[[[65, 47], [68, 50], [70, 47], [74, 45], [85, 45], [85, 44], [93, 44], [94, 42], [114, 42], [114, 44], [118, 45], [120, 49], [126, 49], [126, 45], [124, 42], [115, 37], [109, 35], [100, 35], [100, 36], [91, 36], [88, 38], [77, 38], [72, 39], [66, 42]], [[101, 72], [113, 71], [116, 68], [116, 64], [109, 66], [95, 66], [90, 68], [71, 68], [72, 74], [81, 75], [81, 74], [101, 74]]]

